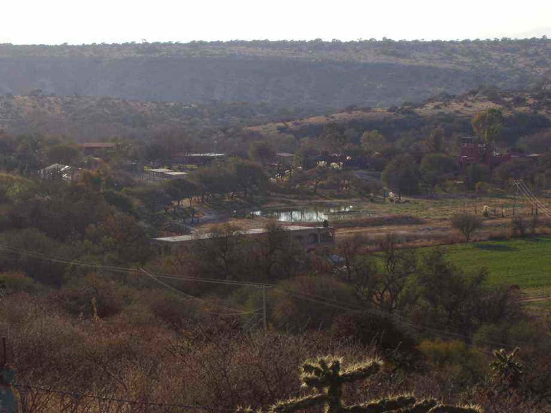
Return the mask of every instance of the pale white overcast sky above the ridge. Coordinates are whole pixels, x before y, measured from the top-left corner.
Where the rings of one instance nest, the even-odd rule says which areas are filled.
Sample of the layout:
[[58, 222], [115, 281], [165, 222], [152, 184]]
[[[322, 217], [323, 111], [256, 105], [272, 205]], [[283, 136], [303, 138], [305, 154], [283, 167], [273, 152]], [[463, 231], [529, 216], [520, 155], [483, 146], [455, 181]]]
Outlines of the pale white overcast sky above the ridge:
[[551, 37], [549, 0], [3, 0], [0, 43]]

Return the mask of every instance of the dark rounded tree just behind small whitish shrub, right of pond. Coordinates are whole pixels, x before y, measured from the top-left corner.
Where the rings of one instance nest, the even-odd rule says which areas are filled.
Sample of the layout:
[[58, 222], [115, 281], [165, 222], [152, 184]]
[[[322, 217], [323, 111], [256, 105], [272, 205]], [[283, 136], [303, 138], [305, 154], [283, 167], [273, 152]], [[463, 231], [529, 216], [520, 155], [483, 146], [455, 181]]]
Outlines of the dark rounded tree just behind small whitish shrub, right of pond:
[[381, 180], [389, 188], [396, 188], [398, 195], [419, 192], [419, 168], [411, 155], [397, 155], [383, 170]]

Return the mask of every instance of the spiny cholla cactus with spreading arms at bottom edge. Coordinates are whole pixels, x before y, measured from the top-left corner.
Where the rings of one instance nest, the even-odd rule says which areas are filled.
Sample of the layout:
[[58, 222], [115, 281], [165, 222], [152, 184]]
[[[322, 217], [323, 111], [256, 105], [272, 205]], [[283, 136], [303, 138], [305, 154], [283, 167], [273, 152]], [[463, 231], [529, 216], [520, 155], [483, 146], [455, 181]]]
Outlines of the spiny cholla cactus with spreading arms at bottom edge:
[[[324, 413], [480, 413], [476, 406], [449, 406], [435, 399], [417, 400], [413, 395], [398, 395], [390, 398], [371, 400], [367, 403], [344, 405], [342, 386], [369, 378], [382, 368], [379, 359], [350, 366], [341, 371], [342, 359], [320, 357], [306, 361], [300, 368], [302, 387], [316, 393], [301, 398], [278, 401], [268, 409], [268, 413], [295, 413], [310, 407], [323, 406]], [[251, 413], [251, 409], [237, 409], [240, 413]], [[261, 413], [260, 411], [258, 413]]]

